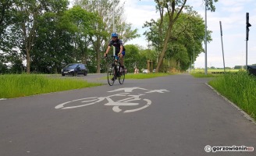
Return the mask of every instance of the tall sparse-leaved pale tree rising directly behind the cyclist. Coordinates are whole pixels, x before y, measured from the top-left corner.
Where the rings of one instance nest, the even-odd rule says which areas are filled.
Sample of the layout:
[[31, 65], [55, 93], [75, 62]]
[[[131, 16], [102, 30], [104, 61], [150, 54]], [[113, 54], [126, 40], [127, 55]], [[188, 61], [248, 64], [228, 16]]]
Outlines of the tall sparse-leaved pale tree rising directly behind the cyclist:
[[[112, 24], [113, 15], [115, 16], [115, 31], [120, 34], [120, 37], [123, 37], [125, 41], [137, 37], [137, 30], [131, 30], [130, 24], [127, 24], [123, 20], [123, 5], [120, 0], [76, 0], [75, 4], [81, 5], [90, 12], [97, 13], [105, 24], [105, 27], [101, 27], [101, 29], [95, 27], [97, 30], [96, 36], [92, 38], [94, 51], [97, 54], [97, 73], [100, 73], [102, 51], [105, 51], [108, 44], [109, 34], [114, 31]], [[108, 35], [105, 34], [105, 31], [108, 32]]]

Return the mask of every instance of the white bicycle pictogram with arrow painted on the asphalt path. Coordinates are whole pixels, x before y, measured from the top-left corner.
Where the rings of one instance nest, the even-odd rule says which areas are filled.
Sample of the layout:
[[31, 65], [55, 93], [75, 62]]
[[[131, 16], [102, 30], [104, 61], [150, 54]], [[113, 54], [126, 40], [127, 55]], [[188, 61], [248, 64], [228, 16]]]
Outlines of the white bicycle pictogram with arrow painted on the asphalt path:
[[[143, 106], [141, 106], [139, 108], [126, 109], [123, 112], [125, 112], [125, 113], [126, 112], [137, 112], [144, 108], [148, 108], [148, 106], [151, 105], [151, 100], [146, 99], [146, 98], [144, 98], [144, 99], [140, 98], [140, 96], [143, 96], [145, 94], [136, 94], [136, 95], [130, 94], [134, 89], [147, 90], [147, 89], [139, 88], [139, 87], [120, 88], [120, 89], [112, 90], [112, 91], [108, 91], [108, 92], [124, 90], [125, 93], [113, 94], [108, 97], [81, 98], [81, 99], [77, 99], [77, 100], [73, 100], [73, 101], [64, 102], [60, 105], [55, 106], [55, 108], [56, 109], [80, 108], [80, 107], [84, 107], [87, 105], [94, 105], [96, 103], [104, 101], [105, 99], [108, 101], [107, 103], [105, 103], [105, 105], [112, 106], [112, 110], [114, 112], [122, 112], [123, 109], [121, 109], [120, 107], [123, 107], [123, 106], [126, 106], [126, 108], [128, 108], [129, 106], [140, 105], [141, 101], [143, 101]], [[165, 92], [169, 92], [169, 91], [168, 90], [149, 90], [148, 92], [145, 92], [145, 93], [156, 93], [156, 92], [157, 93], [165, 93]], [[119, 101], [113, 101], [111, 97], [126, 97], [126, 98], [119, 100]], [[76, 105], [73, 105], [73, 104], [76, 104]], [[68, 105], [73, 105], [73, 106], [68, 106]]]

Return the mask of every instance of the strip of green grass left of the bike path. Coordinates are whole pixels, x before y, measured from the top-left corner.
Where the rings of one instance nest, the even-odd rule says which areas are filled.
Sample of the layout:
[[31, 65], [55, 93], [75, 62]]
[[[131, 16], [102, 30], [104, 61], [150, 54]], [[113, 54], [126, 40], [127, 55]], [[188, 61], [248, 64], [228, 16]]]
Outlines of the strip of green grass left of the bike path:
[[0, 75], [0, 98], [24, 97], [34, 94], [99, 86], [85, 80], [48, 78], [44, 75]]

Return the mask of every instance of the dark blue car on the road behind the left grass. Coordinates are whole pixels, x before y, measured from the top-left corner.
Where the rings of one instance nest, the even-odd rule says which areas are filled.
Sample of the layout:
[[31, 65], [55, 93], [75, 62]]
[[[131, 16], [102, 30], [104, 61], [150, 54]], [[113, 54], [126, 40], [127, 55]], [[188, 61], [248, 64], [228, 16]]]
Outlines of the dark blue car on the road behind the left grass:
[[72, 75], [72, 76], [78, 76], [78, 75], [84, 75], [87, 76], [87, 67], [82, 63], [72, 63], [67, 66], [65, 66], [62, 69], [62, 76], [66, 75]]

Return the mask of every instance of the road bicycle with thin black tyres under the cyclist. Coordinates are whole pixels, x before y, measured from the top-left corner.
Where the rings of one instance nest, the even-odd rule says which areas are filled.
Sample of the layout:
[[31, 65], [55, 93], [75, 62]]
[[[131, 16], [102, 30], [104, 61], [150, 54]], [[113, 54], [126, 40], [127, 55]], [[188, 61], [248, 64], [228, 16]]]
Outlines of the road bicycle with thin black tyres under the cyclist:
[[[108, 55], [106, 55], [106, 58], [108, 58]], [[119, 62], [119, 57], [116, 55], [112, 55], [111, 58], [113, 58], [112, 63], [108, 67], [108, 84], [109, 86], [112, 86], [116, 79], [119, 80], [120, 84], [123, 84], [126, 72], [125, 69], [121, 69], [121, 64]]]

